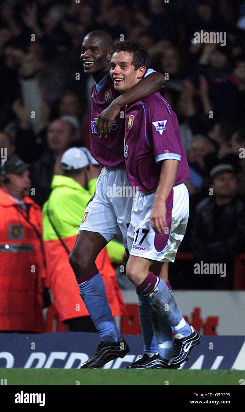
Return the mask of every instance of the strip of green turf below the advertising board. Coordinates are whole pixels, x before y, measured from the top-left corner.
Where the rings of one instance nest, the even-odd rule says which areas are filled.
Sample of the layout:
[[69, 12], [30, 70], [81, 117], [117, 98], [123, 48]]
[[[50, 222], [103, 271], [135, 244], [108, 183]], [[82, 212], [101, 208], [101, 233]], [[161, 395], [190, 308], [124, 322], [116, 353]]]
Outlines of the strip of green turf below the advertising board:
[[7, 385], [239, 385], [239, 370], [5, 369]]

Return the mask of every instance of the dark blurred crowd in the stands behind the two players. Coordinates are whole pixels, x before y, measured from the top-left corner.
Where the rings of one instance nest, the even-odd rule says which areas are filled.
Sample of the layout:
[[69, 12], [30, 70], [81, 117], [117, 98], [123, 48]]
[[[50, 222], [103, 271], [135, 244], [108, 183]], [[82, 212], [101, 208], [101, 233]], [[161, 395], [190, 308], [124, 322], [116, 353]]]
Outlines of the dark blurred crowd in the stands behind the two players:
[[[173, 288], [232, 289], [233, 257], [245, 252], [245, 1], [3, 1], [2, 160], [7, 149], [7, 157], [33, 164], [32, 199], [42, 207], [54, 175], [64, 174], [64, 152], [89, 149], [93, 80], [83, 73], [80, 47], [97, 29], [114, 42], [148, 48], [152, 68], [167, 80], [161, 94], [178, 117], [190, 167], [190, 215], [179, 250], [194, 256], [170, 264]], [[201, 30], [219, 33], [223, 44], [196, 42]], [[196, 275], [201, 261], [226, 263], [226, 276]], [[124, 281], [130, 287], [125, 278], [118, 274], [121, 288]]]

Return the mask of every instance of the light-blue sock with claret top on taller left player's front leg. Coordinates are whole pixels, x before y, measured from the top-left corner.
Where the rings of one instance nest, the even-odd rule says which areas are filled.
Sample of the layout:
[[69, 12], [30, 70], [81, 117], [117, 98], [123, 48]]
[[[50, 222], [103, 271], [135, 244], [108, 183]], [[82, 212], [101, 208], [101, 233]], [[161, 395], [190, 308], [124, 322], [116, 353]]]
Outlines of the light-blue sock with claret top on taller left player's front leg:
[[[94, 271], [95, 272], [95, 271]], [[90, 314], [102, 342], [118, 342], [121, 334], [114, 321], [111, 308], [106, 298], [106, 290], [101, 274], [91, 274], [85, 278], [77, 279], [80, 288], [80, 296]], [[91, 278], [91, 279], [89, 279]], [[83, 279], [85, 280], [83, 282]]]

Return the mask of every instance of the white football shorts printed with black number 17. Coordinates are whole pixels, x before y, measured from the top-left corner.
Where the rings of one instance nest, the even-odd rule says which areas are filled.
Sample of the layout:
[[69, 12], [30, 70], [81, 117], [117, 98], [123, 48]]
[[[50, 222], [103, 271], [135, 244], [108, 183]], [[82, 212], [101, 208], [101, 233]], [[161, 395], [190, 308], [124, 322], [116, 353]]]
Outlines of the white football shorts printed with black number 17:
[[139, 191], [134, 197], [131, 222], [127, 232], [130, 255], [159, 262], [174, 262], [184, 237], [189, 216], [189, 194], [184, 183], [174, 186], [167, 199], [167, 226], [157, 234], [151, 226], [151, 210], [155, 192]]

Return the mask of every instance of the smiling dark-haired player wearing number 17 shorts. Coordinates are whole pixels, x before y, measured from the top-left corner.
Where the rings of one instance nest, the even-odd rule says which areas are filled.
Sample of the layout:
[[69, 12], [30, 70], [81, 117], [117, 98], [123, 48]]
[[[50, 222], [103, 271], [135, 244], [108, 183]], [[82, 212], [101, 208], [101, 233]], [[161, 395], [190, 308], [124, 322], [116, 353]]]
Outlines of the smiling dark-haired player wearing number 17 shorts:
[[[149, 54], [139, 43], [113, 47], [111, 77], [115, 90], [124, 94], [142, 81]], [[174, 262], [188, 222], [189, 198], [184, 180], [188, 163], [179, 133], [177, 116], [160, 93], [125, 108], [125, 164], [133, 199], [127, 233], [130, 257], [126, 274], [137, 293], [173, 327], [173, 354], [168, 367], [177, 368], [196, 344], [199, 333], [184, 320], [166, 283], [149, 272], [153, 261]]]

